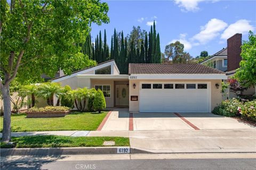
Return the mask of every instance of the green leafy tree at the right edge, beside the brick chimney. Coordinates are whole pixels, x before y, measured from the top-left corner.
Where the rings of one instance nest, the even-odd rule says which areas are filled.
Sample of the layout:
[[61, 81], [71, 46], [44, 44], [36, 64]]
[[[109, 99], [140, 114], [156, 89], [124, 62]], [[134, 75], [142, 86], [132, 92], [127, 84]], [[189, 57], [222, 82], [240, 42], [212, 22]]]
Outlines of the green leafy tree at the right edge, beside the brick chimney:
[[235, 77], [245, 87], [256, 85], [256, 35], [249, 32], [249, 41], [242, 45], [241, 56], [243, 60], [239, 63]]

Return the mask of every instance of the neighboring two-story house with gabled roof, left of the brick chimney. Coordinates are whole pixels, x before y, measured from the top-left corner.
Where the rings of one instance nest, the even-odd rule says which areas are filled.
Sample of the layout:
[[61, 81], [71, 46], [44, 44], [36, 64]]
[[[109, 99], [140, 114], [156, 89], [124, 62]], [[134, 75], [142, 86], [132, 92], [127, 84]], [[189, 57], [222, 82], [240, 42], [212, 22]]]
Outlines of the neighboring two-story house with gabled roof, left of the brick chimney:
[[223, 48], [222, 50], [210, 56], [210, 58], [202, 61], [201, 64], [226, 72], [228, 66], [227, 51], [227, 47]]

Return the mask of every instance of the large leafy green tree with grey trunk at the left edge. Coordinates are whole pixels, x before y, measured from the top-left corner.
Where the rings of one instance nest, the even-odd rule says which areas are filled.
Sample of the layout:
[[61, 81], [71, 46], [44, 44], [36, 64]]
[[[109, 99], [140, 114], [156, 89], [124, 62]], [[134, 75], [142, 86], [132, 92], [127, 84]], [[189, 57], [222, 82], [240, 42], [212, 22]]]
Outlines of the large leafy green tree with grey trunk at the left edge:
[[85, 42], [92, 22], [107, 23], [108, 5], [86, 1], [1, 1], [1, 91], [4, 101], [3, 138], [11, 139], [10, 83], [17, 77], [41, 80], [60, 68], [65, 74], [95, 65], [75, 45]]

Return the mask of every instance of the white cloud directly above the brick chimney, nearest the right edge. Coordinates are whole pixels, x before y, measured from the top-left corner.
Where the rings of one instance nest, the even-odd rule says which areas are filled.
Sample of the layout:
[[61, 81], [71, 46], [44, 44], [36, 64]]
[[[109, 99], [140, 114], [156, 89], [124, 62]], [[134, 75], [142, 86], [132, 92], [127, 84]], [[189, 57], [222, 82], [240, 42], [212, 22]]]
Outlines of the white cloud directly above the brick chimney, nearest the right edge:
[[228, 26], [228, 28], [221, 34], [221, 38], [228, 39], [236, 33], [246, 34], [249, 30], [254, 30], [253, 26], [250, 25], [250, 21], [238, 20]]

